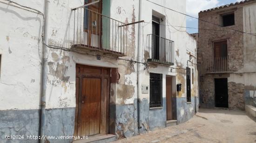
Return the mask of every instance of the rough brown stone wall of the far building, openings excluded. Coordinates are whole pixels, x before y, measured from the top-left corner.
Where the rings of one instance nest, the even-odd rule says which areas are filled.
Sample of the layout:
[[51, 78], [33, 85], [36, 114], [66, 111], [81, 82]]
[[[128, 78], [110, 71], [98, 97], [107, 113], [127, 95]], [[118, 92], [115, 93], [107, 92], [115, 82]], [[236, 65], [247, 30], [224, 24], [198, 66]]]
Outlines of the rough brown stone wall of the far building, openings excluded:
[[[222, 25], [221, 14], [227, 12], [234, 12], [235, 25], [226, 28], [218, 26]], [[215, 78], [228, 78], [228, 96], [229, 109], [244, 110], [244, 84], [236, 78], [229, 78], [233, 72], [239, 72], [243, 69], [243, 34], [235, 32], [243, 31], [243, 6], [229, 6], [207, 12], [200, 12], [199, 19], [209, 21], [210, 24], [204, 21], [199, 21], [199, 35], [198, 35], [198, 69], [200, 70], [200, 106], [206, 108], [215, 107]], [[216, 31], [208, 31], [202, 29], [212, 29]], [[227, 40], [228, 49], [228, 68], [230, 74], [205, 73], [206, 59], [214, 57], [213, 42]]]

